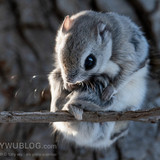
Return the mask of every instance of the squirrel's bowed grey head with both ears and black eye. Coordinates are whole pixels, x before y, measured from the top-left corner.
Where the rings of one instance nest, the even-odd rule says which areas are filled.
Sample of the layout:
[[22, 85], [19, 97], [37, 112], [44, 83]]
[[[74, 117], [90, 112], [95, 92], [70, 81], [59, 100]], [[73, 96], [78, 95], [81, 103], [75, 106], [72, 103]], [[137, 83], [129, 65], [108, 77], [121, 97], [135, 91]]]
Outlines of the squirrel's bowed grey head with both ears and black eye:
[[64, 82], [86, 81], [105, 72], [112, 53], [110, 28], [87, 12], [66, 16], [57, 35], [56, 52]]

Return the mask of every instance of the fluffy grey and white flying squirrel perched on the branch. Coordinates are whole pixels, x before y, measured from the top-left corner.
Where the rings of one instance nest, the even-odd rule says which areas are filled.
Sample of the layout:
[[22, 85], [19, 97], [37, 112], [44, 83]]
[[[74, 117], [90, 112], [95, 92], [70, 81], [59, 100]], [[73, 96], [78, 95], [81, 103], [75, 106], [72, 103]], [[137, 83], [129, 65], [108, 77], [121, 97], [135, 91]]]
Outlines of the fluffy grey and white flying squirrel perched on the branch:
[[[141, 108], [147, 92], [148, 43], [139, 27], [117, 13], [82, 11], [66, 16], [58, 30], [54, 70], [49, 75], [51, 111]], [[127, 132], [128, 122], [54, 122], [80, 146], [109, 147]]]

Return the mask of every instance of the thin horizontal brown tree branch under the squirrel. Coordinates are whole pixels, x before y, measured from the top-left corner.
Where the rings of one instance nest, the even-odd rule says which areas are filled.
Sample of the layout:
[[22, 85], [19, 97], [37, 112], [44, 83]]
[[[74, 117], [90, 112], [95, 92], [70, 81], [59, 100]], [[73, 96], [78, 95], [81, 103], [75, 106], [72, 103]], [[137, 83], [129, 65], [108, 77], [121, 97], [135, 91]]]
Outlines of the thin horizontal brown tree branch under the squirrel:
[[[160, 120], [160, 108], [145, 111], [127, 112], [84, 112], [82, 121], [140, 121], [156, 123]], [[0, 123], [49, 123], [59, 121], [77, 121], [67, 111], [61, 112], [0, 112]]]

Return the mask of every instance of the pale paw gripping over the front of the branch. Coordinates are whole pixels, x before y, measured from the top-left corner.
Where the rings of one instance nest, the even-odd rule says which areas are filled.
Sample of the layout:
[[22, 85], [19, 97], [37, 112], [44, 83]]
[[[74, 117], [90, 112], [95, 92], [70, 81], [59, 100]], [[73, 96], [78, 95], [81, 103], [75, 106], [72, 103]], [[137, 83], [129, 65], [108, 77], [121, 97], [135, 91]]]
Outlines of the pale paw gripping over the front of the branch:
[[63, 109], [71, 113], [77, 120], [82, 120], [83, 109], [80, 107], [80, 104], [66, 104]]

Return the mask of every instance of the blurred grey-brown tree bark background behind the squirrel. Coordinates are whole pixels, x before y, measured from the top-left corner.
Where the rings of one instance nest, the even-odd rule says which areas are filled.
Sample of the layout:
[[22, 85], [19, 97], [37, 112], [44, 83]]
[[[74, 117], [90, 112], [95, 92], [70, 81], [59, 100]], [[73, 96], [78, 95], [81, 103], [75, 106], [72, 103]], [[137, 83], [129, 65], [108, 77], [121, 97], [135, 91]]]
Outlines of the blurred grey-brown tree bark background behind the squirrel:
[[[49, 110], [57, 29], [66, 15], [88, 9], [129, 16], [160, 52], [160, 0], [0, 0], [0, 111]], [[0, 124], [0, 160], [159, 160], [159, 130], [134, 122], [110, 149], [92, 151], [51, 134], [49, 124]]]

